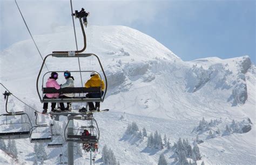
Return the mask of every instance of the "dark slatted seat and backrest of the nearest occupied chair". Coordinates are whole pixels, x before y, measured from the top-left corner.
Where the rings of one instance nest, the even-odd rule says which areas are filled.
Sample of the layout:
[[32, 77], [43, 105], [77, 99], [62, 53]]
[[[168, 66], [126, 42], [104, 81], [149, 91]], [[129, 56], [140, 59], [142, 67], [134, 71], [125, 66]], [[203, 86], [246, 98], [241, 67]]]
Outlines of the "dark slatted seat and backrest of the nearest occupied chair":
[[[65, 93], [101, 93], [101, 87], [66, 87], [66, 88], [60, 88], [59, 90], [56, 90], [56, 88], [48, 87], [43, 88], [43, 93], [59, 93], [59, 94], [65, 94]], [[102, 102], [102, 98], [86, 98], [86, 97], [73, 97], [73, 98], [50, 98], [50, 99], [44, 99], [42, 102]]]

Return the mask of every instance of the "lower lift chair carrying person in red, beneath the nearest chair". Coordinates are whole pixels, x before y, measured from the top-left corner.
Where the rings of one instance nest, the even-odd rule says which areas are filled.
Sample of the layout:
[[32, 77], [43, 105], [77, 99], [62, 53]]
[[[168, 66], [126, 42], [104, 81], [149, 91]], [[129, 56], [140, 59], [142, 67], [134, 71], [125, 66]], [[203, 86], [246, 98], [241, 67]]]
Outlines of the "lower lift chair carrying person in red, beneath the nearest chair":
[[[78, 129], [73, 129], [73, 133], [66, 133], [66, 130], [68, 129], [69, 121], [65, 128], [65, 140], [67, 142], [76, 142], [76, 143], [98, 143], [99, 140], [99, 128], [97, 121], [95, 119], [88, 119], [91, 120], [91, 125], [89, 126], [81, 126]], [[92, 125], [92, 123], [95, 123], [96, 127]], [[84, 129], [87, 129], [90, 133], [89, 136], [82, 135], [82, 131]]]

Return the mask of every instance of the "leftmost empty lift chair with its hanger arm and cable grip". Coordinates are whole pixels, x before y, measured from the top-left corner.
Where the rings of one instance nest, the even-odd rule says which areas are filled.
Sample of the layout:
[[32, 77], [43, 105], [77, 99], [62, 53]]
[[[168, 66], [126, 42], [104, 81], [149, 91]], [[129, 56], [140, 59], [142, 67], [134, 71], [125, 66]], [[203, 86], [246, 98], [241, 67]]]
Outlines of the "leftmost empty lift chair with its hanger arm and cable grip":
[[[7, 110], [8, 98], [11, 95], [10, 92], [4, 93], [5, 102], [5, 111], [6, 114], [1, 114], [0, 116], [5, 116], [5, 121], [0, 125], [0, 139], [25, 139], [29, 138], [31, 135], [32, 123], [29, 119], [28, 114], [23, 111], [19, 112], [9, 112]], [[20, 117], [19, 120], [12, 122], [11, 118]], [[8, 122], [9, 118], [9, 122]], [[7, 126], [7, 127], [6, 127]]]

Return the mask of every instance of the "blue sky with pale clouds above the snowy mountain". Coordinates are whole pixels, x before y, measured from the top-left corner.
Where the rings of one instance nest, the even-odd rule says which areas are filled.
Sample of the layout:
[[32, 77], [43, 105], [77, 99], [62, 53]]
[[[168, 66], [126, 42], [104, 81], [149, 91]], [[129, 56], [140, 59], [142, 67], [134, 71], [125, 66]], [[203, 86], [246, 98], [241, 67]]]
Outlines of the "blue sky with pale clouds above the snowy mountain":
[[[90, 25], [124, 25], [155, 38], [184, 61], [248, 55], [255, 64], [255, 1], [84, 1]], [[32, 35], [72, 26], [69, 0], [17, 0]], [[14, 0], [1, 0], [0, 50], [30, 39]], [[34, 46], [34, 45], [31, 45]]]

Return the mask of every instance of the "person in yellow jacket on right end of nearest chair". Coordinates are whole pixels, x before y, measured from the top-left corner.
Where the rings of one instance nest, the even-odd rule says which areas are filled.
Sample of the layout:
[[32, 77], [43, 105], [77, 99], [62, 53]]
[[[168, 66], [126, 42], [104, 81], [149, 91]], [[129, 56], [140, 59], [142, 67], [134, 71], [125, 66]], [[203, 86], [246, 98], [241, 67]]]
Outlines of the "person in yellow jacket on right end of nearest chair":
[[[100, 79], [99, 74], [96, 72], [91, 72], [91, 78], [90, 80], [88, 80], [85, 85], [86, 88], [90, 88], [90, 87], [102, 87], [102, 90], [104, 90], [105, 88], [105, 84], [104, 81], [102, 79]], [[86, 94], [87, 98], [101, 98], [102, 95], [104, 94], [104, 92], [102, 91], [101, 93], [88, 93]], [[95, 102], [95, 106], [93, 104], [93, 102], [88, 102], [89, 105], [89, 111], [99, 111], [99, 106], [100, 106], [100, 102]]]

